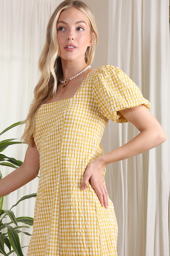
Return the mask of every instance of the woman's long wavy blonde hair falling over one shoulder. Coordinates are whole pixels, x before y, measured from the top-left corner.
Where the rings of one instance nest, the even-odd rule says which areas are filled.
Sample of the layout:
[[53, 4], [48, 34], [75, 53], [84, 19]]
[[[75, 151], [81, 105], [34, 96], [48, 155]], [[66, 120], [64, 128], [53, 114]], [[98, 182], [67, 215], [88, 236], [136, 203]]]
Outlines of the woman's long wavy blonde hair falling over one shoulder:
[[[34, 89], [34, 98], [29, 109], [28, 116], [23, 123], [26, 128], [22, 136], [22, 140], [28, 145], [33, 137], [35, 129], [35, 118], [37, 110], [42, 104], [47, 103], [56, 93], [57, 84], [62, 77], [62, 63], [59, 57], [59, 46], [57, 42], [57, 22], [60, 13], [65, 9], [77, 8], [84, 12], [89, 19], [90, 36], [92, 45], [87, 47], [85, 52], [85, 62], [90, 65], [94, 58], [94, 51], [98, 42], [98, 32], [96, 28], [95, 18], [89, 7], [79, 0], [65, 0], [57, 6], [53, 12], [47, 26], [46, 42], [39, 59], [39, 69], [41, 77]], [[92, 33], [93, 32], [93, 33]]]

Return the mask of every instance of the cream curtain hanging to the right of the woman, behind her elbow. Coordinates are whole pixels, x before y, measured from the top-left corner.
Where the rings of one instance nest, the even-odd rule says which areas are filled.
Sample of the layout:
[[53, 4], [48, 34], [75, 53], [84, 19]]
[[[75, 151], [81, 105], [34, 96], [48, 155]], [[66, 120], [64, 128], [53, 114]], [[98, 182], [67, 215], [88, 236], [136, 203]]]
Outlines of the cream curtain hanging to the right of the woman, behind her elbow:
[[[170, 120], [169, 0], [109, 0], [108, 63], [140, 87], [167, 135]], [[137, 134], [109, 123], [109, 150]], [[107, 182], [118, 221], [119, 256], [168, 256], [169, 141], [109, 166]]]

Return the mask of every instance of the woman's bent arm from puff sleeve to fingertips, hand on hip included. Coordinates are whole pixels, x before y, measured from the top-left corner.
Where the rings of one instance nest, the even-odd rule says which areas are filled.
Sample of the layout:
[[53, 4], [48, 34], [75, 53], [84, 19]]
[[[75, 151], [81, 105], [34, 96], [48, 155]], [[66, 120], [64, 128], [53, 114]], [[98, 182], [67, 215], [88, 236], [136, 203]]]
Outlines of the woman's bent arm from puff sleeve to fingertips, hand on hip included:
[[108, 205], [108, 193], [103, 184], [102, 172], [104, 166], [143, 153], [166, 140], [166, 134], [163, 128], [144, 105], [127, 108], [119, 112], [129, 122], [134, 124], [140, 133], [128, 143], [98, 157], [89, 164], [85, 171], [83, 183], [81, 184], [81, 189], [85, 189], [90, 179], [101, 205], [105, 206], [105, 208]]

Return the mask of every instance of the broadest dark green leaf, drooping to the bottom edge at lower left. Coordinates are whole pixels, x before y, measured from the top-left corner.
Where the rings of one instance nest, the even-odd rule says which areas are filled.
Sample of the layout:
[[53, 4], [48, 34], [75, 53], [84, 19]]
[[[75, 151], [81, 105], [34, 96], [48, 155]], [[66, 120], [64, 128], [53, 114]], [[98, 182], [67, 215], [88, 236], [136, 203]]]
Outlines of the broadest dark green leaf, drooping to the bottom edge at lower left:
[[4, 224], [8, 228], [8, 237], [11, 243], [12, 248], [14, 249], [14, 252], [17, 254], [17, 256], [24, 256], [21, 250], [21, 245], [19, 241], [19, 236], [12, 228], [11, 226]]

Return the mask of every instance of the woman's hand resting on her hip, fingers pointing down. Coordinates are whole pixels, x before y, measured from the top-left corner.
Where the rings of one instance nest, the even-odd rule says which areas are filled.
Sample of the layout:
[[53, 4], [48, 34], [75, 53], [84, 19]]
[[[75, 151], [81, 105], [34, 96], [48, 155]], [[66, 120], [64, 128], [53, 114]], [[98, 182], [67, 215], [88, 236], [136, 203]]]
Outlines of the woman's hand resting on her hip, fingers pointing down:
[[84, 180], [81, 184], [81, 189], [84, 190], [88, 182], [91, 183], [92, 187], [96, 191], [100, 203], [107, 209], [108, 205], [108, 192], [103, 183], [103, 164], [101, 164], [100, 157], [89, 164], [85, 170]]

